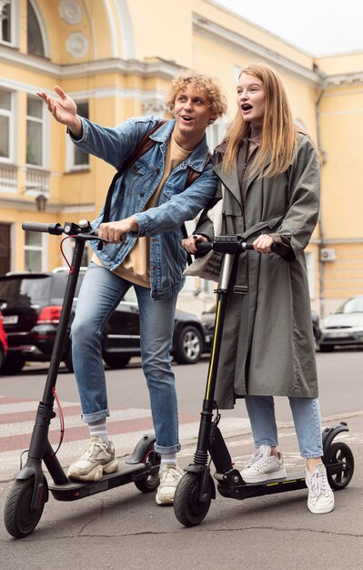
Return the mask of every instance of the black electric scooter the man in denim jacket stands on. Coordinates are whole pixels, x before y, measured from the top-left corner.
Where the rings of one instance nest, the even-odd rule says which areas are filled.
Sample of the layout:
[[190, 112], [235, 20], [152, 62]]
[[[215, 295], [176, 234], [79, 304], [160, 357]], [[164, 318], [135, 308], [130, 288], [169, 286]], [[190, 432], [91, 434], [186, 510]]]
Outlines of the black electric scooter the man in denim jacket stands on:
[[[148, 433], [136, 444], [136, 448], [126, 461], [118, 462], [116, 473], [104, 474], [103, 478], [96, 483], [72, 481], [66, 477], [65, 471], [49, 443], [48, 432], [50, 422], [55, 418], [55, 382], [75, 297], [82, 254], [86, 240], [99, 238], [86, 220], [81, 220], [79, 224], [66, 222], [65, 226], [24, 222], [22, 228], [27, 231], [47, 232], [55, 236], [66, 234], [66, 236], [75, 239], [75, 249], [46, 377], [43, 400], [39, 402], [37, 408], [27, 461], [15, 475], [15, 483], [5, 503], [5, 527], [7, 532], [15, 538], [23, 538], [35, 530], [35, 526], [43, 514], [45, 503], [48, 501], [49, 491], [57, 501], [76, 501], [126, 483], [135, 483], [139, 491], [149, 493], [154, 491], [159, 484], [158, 470], [160, 466], [160, 456], [154, 451], [155, 434]], [[106, 241], [106, 239], [102, 239], [102, 241]], [[43, 473], [42, 462], [45, 463], [53, 480], [51, 483], [48, 483], [45, 473]]]

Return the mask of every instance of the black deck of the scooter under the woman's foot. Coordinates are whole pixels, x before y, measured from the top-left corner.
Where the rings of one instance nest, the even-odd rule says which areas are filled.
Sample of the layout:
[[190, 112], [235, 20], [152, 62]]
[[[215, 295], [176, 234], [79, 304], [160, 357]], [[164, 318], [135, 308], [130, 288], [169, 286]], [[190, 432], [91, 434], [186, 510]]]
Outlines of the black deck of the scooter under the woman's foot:
[[[236, 470], [233, 470], [236, 473]], [[215, 473], [217, 489], [223, 497], [234, 499], [247, 499], [264, 494], [286, 493], [306, 489], [305, 473], [288, 473], [284, 479], [270, 479], [262, 483], [245, 483], [242, 477], [235, 483], [232, 478], [223, 473]]]

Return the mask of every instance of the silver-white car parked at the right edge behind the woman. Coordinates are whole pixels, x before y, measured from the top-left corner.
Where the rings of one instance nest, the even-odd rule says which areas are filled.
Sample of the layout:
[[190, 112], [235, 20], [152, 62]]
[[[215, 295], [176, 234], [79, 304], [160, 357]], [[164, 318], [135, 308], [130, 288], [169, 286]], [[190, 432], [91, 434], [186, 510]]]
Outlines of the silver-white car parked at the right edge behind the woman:
[[363, 346], [363, 295], [346, 300], [321, 323], [320, 351], [344, 346]]

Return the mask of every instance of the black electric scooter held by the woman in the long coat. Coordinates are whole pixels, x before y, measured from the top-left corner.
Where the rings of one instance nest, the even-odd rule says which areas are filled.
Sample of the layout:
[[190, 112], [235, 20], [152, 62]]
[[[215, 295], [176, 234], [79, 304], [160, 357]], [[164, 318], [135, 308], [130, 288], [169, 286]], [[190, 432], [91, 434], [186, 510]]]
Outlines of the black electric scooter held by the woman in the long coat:
[[[174, 511], [179, 523], [195, 526], [207, 515], [212, 499], [216, 498], [216, 487], [210, 473], [210, 463], [216, 468], [218, 492], [227, 498], [247, 499], [264, 494], [285, 493], [306, 488], [305, 473], [290, 473], [285, 479], [270, 480], [266, 483], [245, 483], [239, 471], [233, 466], [231, 456], [222, 433], [218, 428], [220, 414], [217, 409], [215, 389], [217, 363], [223, 334], [223, 322], [227, 305], [228, 283], [235, 256], [252, 244], [243, 241], [241, 236], [221, 236], [211, 243], [199, 243], [197, 249], [211, 250], [223, 254], [223, 262], [217, 289], [217, 310], [212, 351], [207, 373], [207, 388], [197, 440], [194, 462], [176, 487]], [[348, 432], [345, 422], [326, 428], [323, 437], [323, 462], [327, 467], [328, 482], [332, 489], [344, 489], [354, 472], [354, 457], [346, 443], [333, 440], [341, 432]]]

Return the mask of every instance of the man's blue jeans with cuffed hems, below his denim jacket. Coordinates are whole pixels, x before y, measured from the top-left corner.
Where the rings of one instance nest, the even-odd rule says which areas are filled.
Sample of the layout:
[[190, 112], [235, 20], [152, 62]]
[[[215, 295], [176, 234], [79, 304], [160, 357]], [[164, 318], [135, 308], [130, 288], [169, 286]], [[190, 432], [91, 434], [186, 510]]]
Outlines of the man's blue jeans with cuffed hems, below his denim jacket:
[[140, 316], [141, 361], [150, 394], [157, 453], [176, 453], [177, 402], [170, 351], [176, 295], [151, 300], [150, 290], [91, 263], [79, 291], [72, 324], [72, 356], [84, 422], [109, 416], [102, 334], [106, 322], [130, 287], [135, 287]]

